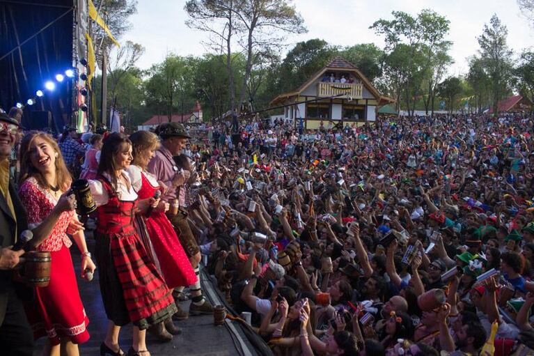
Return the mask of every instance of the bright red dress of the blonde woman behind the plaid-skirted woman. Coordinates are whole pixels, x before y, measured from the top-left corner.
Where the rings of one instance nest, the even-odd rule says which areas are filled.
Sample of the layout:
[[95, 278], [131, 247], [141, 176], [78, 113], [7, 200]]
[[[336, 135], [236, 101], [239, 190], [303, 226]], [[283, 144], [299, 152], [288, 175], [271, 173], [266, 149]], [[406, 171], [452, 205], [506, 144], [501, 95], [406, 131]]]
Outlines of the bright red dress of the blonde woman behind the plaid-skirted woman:
[[[139, 199], [150, 198], [159, 189], [150, 183], [143, 172], [141, 172], [141, 182], [141, 189], [137, 192]], [[150, 217], [145, 219], [145, 224], [167, 286], [175, 288], [194, 284], [195, 271], [165, 212], [152, 211]]]

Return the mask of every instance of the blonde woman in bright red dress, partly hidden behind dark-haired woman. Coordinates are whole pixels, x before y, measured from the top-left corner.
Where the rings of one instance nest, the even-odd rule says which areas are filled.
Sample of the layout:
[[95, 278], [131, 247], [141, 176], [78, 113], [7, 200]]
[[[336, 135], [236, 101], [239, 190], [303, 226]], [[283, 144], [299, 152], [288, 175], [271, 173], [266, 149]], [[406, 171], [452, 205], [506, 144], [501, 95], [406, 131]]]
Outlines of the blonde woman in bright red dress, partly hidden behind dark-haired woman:
[[[154, 157], [155, 151], [159, 148], [158, 137], [149, 131], [137, 131], [130, 135], [132, 141], [132, 154], [134, 160], [128, 168], [132, 186], [139, 195], [139, 199], [149, 199], [155, 192], [161, 191], [156, 177], [146, 170], [148, 162]], [[162, 272], [168, 288], [178, 286], [189, 286], [196, 282], [196, 274], [191, 267], [187, 254], [180, 245], [180, 240], [176, 235], [171, 222], [165, 215], [168, 210], [168, 203], [163, 201], [155, 208], [150, 215], [144, 217], [148, 238], [155, 251], [157, 265]], [[165, 320], [166, 331], [171, 334], [178, 334], [180, 330], [173, 325], [171, 318]], [[157, 335], [163, 337], [164, 330], [160, 328]], [[168, 336], [166, 336], [168, 339]]]

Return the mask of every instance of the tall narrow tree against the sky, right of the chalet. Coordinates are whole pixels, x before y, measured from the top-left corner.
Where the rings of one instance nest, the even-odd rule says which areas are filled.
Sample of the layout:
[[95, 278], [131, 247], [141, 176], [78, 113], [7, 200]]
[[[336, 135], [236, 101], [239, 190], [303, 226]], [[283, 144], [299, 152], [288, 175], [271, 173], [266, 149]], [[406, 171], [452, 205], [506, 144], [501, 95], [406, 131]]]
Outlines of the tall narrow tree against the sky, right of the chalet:
[[477, 38], [482, 65], [491, 79], [494, 113], [497, 112], [498, 101], [507, 91], [512, 70], [513, 52], [506, 45], [506, 36], [508, 36], [508, 29], [494, 14], [489, 20], [489, 26], [484, 24], [482, 35]]

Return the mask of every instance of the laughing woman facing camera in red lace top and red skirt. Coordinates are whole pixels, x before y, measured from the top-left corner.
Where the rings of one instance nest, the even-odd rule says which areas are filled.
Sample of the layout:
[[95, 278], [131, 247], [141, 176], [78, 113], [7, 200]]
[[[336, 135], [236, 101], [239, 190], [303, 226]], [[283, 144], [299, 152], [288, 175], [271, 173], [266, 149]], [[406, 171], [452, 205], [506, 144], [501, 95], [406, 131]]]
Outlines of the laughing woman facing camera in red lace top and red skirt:
[[52, 257], [50, 282], [36, 287], [36, 300], [26, 305], [34, 337], [47, 335], [49, 355], [60, 354], [60, 343], [66, 355], [79, 355], [78, 343], [89, 339], [89, 320], [79, 296], [76, 275], [70, 257], [72, 245], [67, 231], [81, 252], [81, 271], [93, 272], [95, 265], [86, 247], [84, 231], [74, 214], [74, 196], [68, 192], [72, 178], [56, 141], [42, 132], [27, 134], [20, 148], [19, 196], [30, 213], [29, 228], [38, 229], [45, 238], [31, 240], [38, 251], [49, 251]]

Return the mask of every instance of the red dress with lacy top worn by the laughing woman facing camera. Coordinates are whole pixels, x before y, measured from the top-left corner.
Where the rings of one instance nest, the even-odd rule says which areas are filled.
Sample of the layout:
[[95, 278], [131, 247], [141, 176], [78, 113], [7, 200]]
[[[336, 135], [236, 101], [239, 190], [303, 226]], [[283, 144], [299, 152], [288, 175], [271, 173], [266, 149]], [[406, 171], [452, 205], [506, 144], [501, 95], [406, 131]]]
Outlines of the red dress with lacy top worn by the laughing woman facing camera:
[[[19, 196], [29, 212], [29, 227], [32, 228], [47, 217], [56, 199], [39, 187], [35, 178], [24, 181]], [[72, 265], [69, 247], [72, 242], [65, 231], [73, 212], [63, 212], [49, 237], [38, 246], [38, 251], [49, 251], [50, 283], [46, 287], [35, 288], [36, 297], [24, 305], [26, 315], [33, 329], [33, 337], [48, 336], [52, 345], [58, 345], [60, 338], [68, 336], [73, 343], [84, 343], [89, 339], [84, 305], [78, 291], [76, 274]]]

